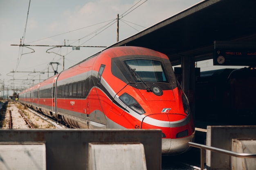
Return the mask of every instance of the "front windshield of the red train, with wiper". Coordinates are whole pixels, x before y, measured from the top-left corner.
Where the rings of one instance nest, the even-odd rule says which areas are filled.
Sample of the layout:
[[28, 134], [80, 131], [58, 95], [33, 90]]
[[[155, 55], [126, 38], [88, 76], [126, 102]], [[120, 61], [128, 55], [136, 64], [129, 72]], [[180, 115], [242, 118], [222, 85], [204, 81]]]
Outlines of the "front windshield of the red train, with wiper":
[[166, 74], [160, 61], [132, 59], [124, 60], [137, 82], [167, 82]]

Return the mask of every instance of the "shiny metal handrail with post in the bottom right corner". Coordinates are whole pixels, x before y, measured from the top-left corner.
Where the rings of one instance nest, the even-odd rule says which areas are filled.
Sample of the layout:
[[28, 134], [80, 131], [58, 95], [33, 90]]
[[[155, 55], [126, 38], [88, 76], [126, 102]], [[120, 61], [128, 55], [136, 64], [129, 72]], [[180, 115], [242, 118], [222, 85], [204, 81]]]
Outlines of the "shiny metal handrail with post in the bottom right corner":
[[219, 152], [226, 155], [234, 156], [234, 157], [240, 157], [240, 158], [256, 158], [256, 153], [238, 153], [238, 152], [232, 152], [225, 149], [215, 148], [212, 146], [206, 146], [202, 144], [196, 144], [193, 142], [189, 142], [189, 146], [200, 148], [200, 164], [201, 164], [201, 170], [204, 170], [204, 149], [211, 150], [213, 152]]

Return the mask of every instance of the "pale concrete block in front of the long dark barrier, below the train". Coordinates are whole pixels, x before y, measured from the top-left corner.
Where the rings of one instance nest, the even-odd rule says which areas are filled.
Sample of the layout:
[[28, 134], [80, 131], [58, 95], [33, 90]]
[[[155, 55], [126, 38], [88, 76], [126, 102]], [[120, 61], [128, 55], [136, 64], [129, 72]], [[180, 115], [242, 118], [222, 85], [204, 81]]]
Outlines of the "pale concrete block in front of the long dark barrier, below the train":
[[146, 170], [142, 144], [89, 144], [88, 170]]

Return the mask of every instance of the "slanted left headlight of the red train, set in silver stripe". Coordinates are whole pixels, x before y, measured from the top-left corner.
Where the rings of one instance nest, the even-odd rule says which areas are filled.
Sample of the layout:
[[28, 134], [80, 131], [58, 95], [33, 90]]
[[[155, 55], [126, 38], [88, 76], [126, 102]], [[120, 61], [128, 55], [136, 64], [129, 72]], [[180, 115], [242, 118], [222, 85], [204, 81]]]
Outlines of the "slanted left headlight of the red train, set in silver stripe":
[[119, 99], [126, 104], [129, 108], [131, 108], [133, 111], [138, 113], [139, 115], [142, 115], [145, 112], [145, 110], [139, 105], [139, 103], [130, 95], [127, 93], [122, 94]]

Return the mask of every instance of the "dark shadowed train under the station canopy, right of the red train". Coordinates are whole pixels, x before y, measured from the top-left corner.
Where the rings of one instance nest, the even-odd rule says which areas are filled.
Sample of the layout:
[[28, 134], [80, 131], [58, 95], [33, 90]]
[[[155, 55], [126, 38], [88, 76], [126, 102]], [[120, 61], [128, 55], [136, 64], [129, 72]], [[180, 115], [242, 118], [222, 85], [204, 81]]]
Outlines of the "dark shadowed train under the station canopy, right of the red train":
[[196, 119], [222, 125], [256, 125], [256, 69], [202, 72], [196, 81]]

